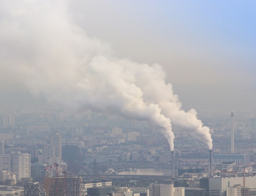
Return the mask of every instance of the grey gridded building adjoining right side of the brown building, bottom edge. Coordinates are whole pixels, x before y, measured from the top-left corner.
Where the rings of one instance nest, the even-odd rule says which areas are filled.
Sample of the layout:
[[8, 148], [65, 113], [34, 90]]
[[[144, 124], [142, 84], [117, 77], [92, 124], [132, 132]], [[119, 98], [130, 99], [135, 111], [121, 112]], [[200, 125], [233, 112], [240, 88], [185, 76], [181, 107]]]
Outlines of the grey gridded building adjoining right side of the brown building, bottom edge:
[[82, 177], [66, 177], [66, 196], [81, 196], [84, 193], [84, 184]]

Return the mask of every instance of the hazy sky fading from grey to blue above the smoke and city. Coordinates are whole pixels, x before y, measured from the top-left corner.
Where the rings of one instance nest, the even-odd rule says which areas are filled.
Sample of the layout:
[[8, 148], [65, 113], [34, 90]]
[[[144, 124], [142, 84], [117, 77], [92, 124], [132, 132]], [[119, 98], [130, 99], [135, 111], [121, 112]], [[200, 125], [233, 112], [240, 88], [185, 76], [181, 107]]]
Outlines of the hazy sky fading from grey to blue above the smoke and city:
[[[26, 2], [23, 8], [27, 6], [33, 9], [32, 1], [23, 2]], [[58, 17], [63, 1], [53, 2]], [[69, 13], [66, 20], [83, 28], [90, 38], [97, 38], [111, 47], [113, 56], [138, 63], [162, 65], [166, 70], [167, 82], [173, 85], [174, 93], [179, 95], [185, 110], [256, 109], [254, 0], [65, 2]], [[15, 1], [6, 3], [0, 0], [0, 3], [3, 28], [11, 21], [8, 11], [15, 9], [22, 12], [22, 9]], [[48, 9], [47, 6], [45, 9]], [[30, 13], [26, 21], [29, 18], [32, 20], [33, 14], [40, 12]], [[24, 21], [22, 18], [20, 20], [16, 24], [22, 27]], [[43, 18], [38, 23], [41, 20]], [[36, 26], [36, 21], [33, 22]], [[14, 27], [12, 29], [16, 30]], [[31, 40], [34, 40], [32, 32], [31, 36]], [[6, 44], [4, 39], [2, 45]], [[26, 40], [29, 38], [26, 37]], [[15, 37], [12, 44], [15, 46], [17, 41], [23, 42], [24, 37]], [[3, 49], [1, 51], [3, 59]], [[1, 69], [2, 75], [5, 75], [3, 65]], [[11, 77], [16, 78], [17, 75]], [[6, 78], [2, 78], [2, 99], [17, 92], [24, 99], [27, 98], [27, 90], [17, 87], [12, 79], [7, 80], [6, 84]], [[14, 98], [17, 100], [16, 96]]]

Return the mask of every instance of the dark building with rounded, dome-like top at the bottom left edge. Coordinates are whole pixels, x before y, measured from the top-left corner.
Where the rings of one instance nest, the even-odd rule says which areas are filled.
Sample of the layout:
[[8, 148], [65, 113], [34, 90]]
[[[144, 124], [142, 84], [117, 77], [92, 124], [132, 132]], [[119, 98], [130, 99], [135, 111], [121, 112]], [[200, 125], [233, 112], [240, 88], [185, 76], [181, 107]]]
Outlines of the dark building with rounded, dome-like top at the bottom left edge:
[[29, 182], [24, 185], [24, 196], [47, 196], [47, 194], [42, 184]]

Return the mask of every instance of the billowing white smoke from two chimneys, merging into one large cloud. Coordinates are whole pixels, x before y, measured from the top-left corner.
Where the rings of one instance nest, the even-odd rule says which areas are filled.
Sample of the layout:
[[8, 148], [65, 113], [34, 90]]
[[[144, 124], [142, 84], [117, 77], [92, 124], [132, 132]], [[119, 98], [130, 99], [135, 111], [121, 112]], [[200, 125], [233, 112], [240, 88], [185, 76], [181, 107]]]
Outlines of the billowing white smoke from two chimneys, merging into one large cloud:
[[[195, 110], [181, 110], [158, 65], [114, 58], [107, 44], [72, 23], [64, 1], [0, 2], [2, 80], [75, 109], [147, 120], [174, 149], [171, 121], [212, 148]], [[171, 119], [171, 120], [170, 120]]]

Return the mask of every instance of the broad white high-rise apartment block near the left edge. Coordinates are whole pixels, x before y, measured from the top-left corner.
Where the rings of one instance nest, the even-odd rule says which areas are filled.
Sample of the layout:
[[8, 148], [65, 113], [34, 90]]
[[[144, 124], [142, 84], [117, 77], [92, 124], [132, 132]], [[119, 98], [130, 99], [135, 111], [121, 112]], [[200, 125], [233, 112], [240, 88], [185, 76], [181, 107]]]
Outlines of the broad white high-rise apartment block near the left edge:
[[14, 154], [13, 155], [13, 169], [12, 172], [16, 174], [16, 179], [31, 177], [31, 155]]

